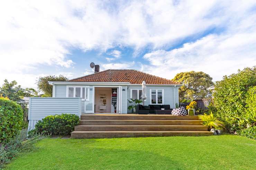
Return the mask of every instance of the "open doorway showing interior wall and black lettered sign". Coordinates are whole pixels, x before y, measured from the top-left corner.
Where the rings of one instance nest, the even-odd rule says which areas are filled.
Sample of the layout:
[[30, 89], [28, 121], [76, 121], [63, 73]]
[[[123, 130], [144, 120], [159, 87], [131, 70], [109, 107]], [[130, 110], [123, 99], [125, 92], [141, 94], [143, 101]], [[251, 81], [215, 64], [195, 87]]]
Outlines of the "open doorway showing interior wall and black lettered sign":
[[117, 88], [95, 87], [94, 113], [116, 113]]

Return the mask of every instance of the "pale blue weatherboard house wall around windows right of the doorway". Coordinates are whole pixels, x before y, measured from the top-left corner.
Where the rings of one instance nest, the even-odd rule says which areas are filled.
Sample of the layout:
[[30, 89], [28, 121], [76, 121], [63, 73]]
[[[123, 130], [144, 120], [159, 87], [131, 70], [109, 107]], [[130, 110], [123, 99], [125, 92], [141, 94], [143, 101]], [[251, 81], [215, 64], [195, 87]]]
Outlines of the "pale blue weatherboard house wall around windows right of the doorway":
[[[141, 89], [140, 85], [130, 85], [127, 88], [127, 107], [130, 105], [128, 103], [128, 99], [130, 99], [131, 89]], [[175, 108], [175, 103], [179, 103], [179, 96], [178, 96], [178, 86], [150, 86], [147, 85], [146, 96], [147, 99], [144, 101], [144, 105], [150, 104], [150, 89], [157, 90], [163, 89], [164, 90], [164, 104], [170, 105], [171, 108]], [[143, 103], [142, 103], [143, 104]], [[131, 113], [131, 110], [127, 110], [128, 113]]]

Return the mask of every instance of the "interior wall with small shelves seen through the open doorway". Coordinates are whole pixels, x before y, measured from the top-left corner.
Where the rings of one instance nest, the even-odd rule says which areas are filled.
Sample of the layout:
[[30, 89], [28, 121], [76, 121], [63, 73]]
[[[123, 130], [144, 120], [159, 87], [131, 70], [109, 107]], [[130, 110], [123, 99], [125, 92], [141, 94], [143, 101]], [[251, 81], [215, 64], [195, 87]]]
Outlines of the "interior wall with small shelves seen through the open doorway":
[[[111, 113], [111, 88], [95, 88], [95, 113]], [[105, 97], [105, 98], [103, 98]], [[100, 110], [103, 101], [106, 99], [106, 110]]]

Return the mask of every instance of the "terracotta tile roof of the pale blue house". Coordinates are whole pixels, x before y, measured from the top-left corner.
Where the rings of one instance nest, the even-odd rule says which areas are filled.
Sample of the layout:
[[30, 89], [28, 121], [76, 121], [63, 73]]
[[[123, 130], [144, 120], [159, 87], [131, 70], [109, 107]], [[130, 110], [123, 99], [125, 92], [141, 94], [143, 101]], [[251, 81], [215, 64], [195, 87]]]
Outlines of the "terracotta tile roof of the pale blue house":
[[68, 82], [127, 82], [130, 84], [179, 84], [169, 79], [157, 77], [137, 70], [105, 70], [68, 80]]

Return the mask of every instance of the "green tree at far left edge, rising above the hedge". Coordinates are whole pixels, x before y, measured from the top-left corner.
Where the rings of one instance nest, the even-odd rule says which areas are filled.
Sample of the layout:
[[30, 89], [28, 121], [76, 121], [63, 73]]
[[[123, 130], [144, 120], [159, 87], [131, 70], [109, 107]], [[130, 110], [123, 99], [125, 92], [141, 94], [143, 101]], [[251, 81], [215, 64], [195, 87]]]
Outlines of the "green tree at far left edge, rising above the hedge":
[[18, 101], [21, 99], [24, 89], [17, 85], [17, 82], [14, 80], [12, 82], [8, 82], [7, 79], [4, 80], [3, 86], [0, 88], [0, 94], [3, 97], [8, 97], [10, 100]]

